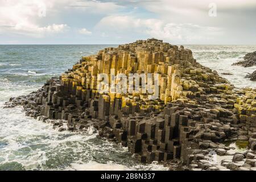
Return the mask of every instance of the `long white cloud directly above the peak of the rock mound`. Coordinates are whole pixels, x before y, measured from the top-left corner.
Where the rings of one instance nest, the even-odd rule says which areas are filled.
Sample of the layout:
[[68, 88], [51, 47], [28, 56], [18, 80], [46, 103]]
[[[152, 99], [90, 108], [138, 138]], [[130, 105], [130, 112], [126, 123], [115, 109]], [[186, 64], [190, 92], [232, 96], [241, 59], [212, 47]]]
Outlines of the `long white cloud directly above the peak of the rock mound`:
[[133, 16], [107, 16], [100, 20], [96, 28], [108, 30], [115, 36], [137, 32], [177, 43], [204, 42], [222, 34], [222, 29], [218, 27], [191, 23], [168, 23], [160, 19], [139, 19]]

